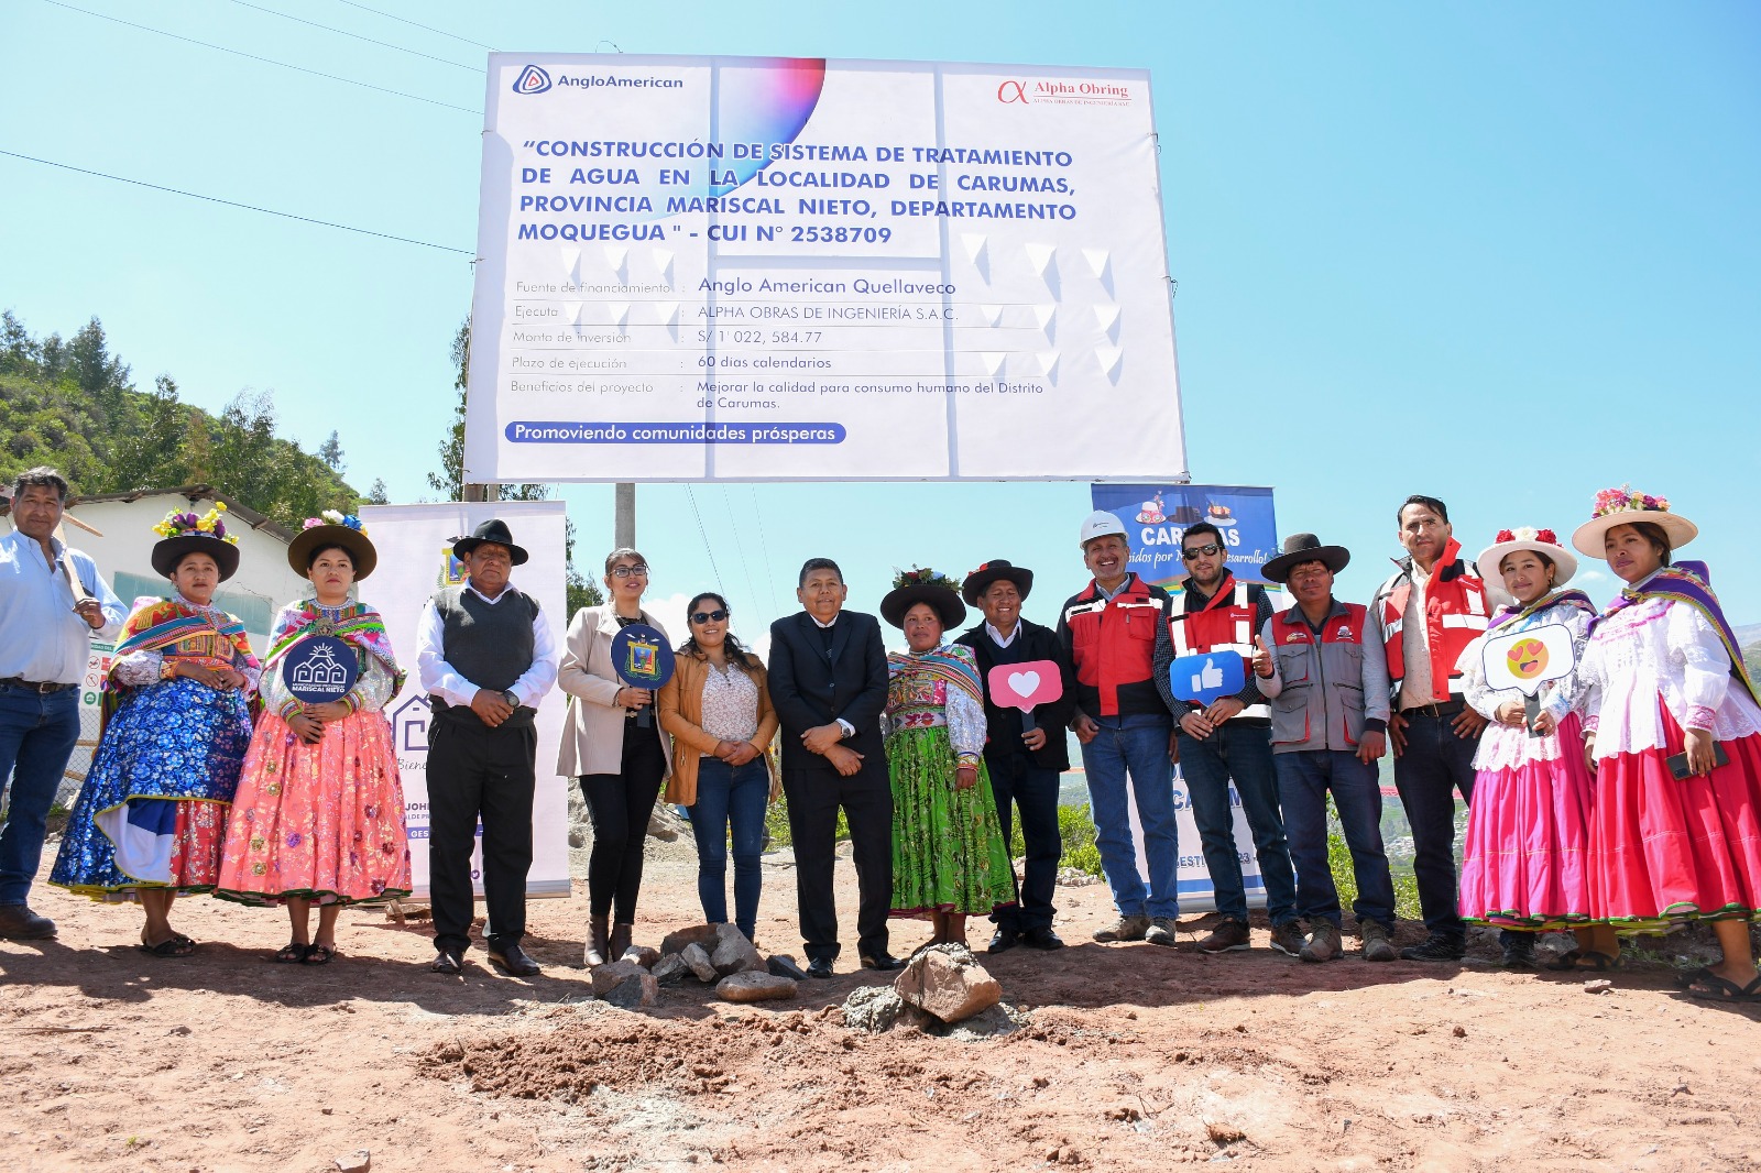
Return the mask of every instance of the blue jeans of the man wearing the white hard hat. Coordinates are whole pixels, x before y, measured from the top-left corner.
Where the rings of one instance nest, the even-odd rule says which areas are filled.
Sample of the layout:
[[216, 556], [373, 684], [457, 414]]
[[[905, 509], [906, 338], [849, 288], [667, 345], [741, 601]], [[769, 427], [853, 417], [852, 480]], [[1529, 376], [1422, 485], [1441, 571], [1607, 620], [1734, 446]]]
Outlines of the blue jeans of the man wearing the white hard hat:
[[[1180, 916], [1180, 847], [1175, 842], [1175, 768], [1168, 761], [1171, 719], [1139, 713], [1101, 717], [1101, 731], [1083, 747], [1088, 803], [1095, 817], [1101, 870], [1120, 916]], [[1150, 863], [1148, 900], [1131, 840], [1125, 777], [1138, 800], [1143, 852]]]

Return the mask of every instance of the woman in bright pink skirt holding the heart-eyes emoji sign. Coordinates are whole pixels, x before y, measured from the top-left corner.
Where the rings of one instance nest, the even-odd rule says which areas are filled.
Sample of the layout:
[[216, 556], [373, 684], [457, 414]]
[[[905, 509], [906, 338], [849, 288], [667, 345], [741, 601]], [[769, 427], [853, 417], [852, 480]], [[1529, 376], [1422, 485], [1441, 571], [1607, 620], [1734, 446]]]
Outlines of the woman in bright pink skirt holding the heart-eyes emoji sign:
[[1536, 694], [1530, 724], [1523, 694], [1486, 683], [1488, 639], [1558, 625], [1583, 653], [1595, 604], [1564, 585], [1578, 558], [1553, 530], [1502, 530], [1476, 560], [1481, 579], [1504, 581], [1516, 599], [1462, 655], [1463, 696], [1488, 722], [1474, 754], [1474, 801], [1467, 814], [1462, 916], [1504, 932], [1506, 965], [1534, 965], [1536, 933], [1578, 930], [1578, 948], [1553, 969], [1610, 969], [1620, 956], [1613, 932], [1590, 926], [1590, 771], [1578, 752], [1581, 726], [1573, 705], [1576, 675]]

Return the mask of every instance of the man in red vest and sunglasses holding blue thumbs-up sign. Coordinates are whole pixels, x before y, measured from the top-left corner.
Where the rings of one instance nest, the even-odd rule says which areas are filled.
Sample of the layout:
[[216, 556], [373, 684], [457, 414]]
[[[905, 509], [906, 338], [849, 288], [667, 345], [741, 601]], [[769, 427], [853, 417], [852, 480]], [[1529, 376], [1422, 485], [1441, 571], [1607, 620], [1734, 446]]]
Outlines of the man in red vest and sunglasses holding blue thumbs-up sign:
[[[1296, 874], [1278, 810], [1278, 775], [1271, 764], [1271, 710], [1254, 683], [1210, 705], [1175, 697], [1169, 668], [1185, 655], [1208, 652], [1254, 657], [1254, 636], [1271, 622], [1271, 601], [1259, 583], [1236, 581], [1222, 530], [1199, 521], [1180, 535], [1187, 585], [1182, 609], [1168, 623], [1169, 646], [1155, 660], [1155, 687], [1176, 715], [1180, 775], [1192, 800], [1192, 821], [1205, 847], [1205, 867], [1217, 893], [1217, 928], [1199, 941], [1199, 953], [1249, 946], [1247, 889], [1234, 845], [1234, 801], [1254, 833], [1254, 854], [1266, 888], [1271, 948], [1298, 956], [1303, 930], [1296, 921]], [[1233, 796], [1231, 796], [1233, 784]]]

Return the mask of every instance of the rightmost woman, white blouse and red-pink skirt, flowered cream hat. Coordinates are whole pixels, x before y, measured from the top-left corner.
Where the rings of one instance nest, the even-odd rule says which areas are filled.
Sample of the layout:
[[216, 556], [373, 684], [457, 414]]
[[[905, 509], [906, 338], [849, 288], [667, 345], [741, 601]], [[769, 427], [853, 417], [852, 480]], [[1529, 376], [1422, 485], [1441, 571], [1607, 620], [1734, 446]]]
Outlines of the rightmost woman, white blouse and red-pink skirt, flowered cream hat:
[[1627, 583], [1578, 666], [1595, 771], [1590, 914], [1622, 932], [1710, 921], [1724, 960], [1687, 974], [1687, 992], [1754, 1002], [1761, 703], [1705, 564], [1671, 562], [1698, 532], [1622, 486], [1597, 493], [1571, 537]]

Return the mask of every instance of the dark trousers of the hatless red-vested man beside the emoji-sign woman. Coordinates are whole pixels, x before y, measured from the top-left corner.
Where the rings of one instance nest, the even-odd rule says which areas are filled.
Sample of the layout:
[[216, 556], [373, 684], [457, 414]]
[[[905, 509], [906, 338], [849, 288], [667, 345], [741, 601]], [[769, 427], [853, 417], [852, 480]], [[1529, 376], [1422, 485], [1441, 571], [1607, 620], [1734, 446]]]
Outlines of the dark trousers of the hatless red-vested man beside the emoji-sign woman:
[[1455, 904], [1455, 793], [1474, 801], [1474, 750], [1479, 738], [1460, 738], [1455, 713], [1407, 713], [1407, 749], [1395, 759], [1395, 789], [1412, 824], [1412, 875], [1419, 882], [1425, 928], [1442, 937], [1465, 937]]

